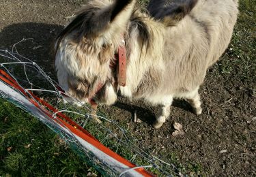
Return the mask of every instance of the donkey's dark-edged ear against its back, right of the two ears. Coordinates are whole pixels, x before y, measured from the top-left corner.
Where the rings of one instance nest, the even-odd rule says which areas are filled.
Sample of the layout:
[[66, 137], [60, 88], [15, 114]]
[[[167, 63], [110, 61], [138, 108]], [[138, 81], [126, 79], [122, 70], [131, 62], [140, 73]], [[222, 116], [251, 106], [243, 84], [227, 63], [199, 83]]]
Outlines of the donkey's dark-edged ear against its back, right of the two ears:
[[165, 0], [158, 0], [158, 9], [156, 8], [156, 1], [151, 1], [148, 7], [150, 14], [162, 22], [166, 26], [173, 26], [177, 24], [182, 18], [193, 10], [198, 0], [182, 0], [171, 1], [165, 3]]

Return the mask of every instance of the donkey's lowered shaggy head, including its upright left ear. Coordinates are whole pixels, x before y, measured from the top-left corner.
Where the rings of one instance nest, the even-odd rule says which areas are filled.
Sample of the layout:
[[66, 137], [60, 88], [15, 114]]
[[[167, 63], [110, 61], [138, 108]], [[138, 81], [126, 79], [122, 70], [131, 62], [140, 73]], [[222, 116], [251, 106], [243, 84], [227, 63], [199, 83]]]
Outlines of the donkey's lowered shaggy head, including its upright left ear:
[[90, 1], [59, 34], [55, 66], [59, 84], [67, 93], [81, 101], [94, 97], [98, 103], [115, 102], [114, 76], [109, 65], [117, 48], [124, 45], [122, 34], [135, 2]]

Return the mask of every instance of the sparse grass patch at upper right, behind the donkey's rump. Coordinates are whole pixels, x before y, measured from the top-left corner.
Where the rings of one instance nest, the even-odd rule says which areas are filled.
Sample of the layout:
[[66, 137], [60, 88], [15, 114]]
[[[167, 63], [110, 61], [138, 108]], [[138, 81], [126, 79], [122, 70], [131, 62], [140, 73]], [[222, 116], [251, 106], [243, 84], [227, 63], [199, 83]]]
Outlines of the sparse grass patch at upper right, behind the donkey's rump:
[[256, 82], [256, 2], [240, 1], [239, 9], [231, 44], [218, 67], [226, 80], [237, 79], [253, 88]]

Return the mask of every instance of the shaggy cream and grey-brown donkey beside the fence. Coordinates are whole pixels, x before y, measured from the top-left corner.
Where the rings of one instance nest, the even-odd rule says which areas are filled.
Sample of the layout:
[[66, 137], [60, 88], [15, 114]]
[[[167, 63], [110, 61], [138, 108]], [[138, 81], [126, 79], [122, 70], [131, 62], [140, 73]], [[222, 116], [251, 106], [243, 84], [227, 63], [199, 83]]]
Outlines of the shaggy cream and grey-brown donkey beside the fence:
[[[111, 105], [117, 92], [160, 107], [160, 128], [173, 98], [201, 114], [199, 86], [225, 52], [238, 16], [238, 0], [91, 0], [59, 34], [59, 84], [81, 102]], [[119, 84], [115, 54], [126, 50], [126, 85]]]

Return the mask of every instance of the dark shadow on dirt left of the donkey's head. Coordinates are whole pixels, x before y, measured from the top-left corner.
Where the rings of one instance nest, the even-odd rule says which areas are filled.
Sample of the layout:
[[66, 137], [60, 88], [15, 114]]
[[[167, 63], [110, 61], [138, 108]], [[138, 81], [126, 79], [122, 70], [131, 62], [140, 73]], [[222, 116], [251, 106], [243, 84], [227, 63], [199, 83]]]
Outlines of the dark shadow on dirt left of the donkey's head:
[[18, 53], [38, 63], [47, 74], [54, 76], [53, 44], [61, 29], [61, 25], [37, 22], [10, 25], [0, 32], [0, 48], [12, 50], [14, 44], [27, 39], [16, 44]]

